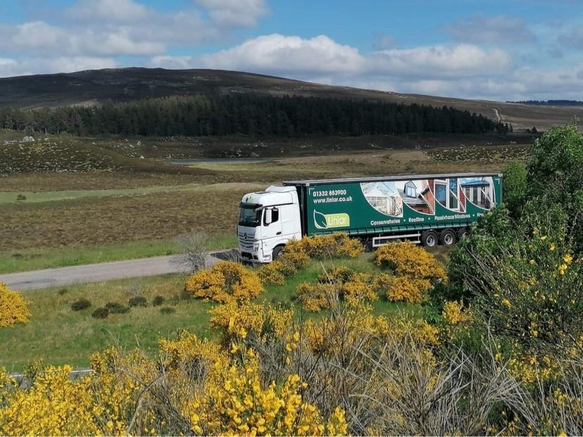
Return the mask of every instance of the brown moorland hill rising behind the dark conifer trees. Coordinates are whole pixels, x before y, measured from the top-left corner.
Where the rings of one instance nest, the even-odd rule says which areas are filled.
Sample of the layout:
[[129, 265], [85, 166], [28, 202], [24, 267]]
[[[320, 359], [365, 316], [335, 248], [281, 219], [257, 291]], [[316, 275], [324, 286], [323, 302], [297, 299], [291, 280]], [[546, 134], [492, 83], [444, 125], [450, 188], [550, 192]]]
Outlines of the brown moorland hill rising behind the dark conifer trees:
[[107, 100], [133, 101], [177, 94], [244, 93], [452, 106], [460, 110], [469, 110], [470, 113], [479, 113], [494, 120], [512, 123], [516, 129], [527, 129], [533, 126], [539, 130], [548, 129], [552, 125], [568, 122], [575, 116], [583, 117], [583, 107], [580, 106], [533, 106], [422, 94], [400, 94], [224, 70], [119, 68], [0, 78], [0, 108], [93, 106]]

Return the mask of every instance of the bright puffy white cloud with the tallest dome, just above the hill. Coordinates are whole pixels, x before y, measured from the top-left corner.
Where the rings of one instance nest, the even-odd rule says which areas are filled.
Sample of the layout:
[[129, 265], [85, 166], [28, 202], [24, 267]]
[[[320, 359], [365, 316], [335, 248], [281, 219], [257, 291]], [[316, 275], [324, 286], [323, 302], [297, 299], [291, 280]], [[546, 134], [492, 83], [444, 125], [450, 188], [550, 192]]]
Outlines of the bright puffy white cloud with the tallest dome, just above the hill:
[[270, 34], [249, 39], [232, 49], [201, 56], [203, 68], [246, 70], [284, 74], [285, 72], [358, 72], [365, 58], [357, 49], [334, 42], [325, 35], [303, 39]]

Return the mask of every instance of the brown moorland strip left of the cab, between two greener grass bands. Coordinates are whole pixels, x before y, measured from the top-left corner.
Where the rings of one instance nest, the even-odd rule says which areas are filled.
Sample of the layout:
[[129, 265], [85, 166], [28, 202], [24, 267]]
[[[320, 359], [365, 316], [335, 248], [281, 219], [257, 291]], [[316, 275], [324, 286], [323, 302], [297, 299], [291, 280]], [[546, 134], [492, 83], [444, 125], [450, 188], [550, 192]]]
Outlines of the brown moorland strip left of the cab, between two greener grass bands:
[[242, 196], [257, 189], [208, 188], [120, 198], [9, 204], [0, 211], [0, 249], [166, 239], [197, 229], [234, 232]]

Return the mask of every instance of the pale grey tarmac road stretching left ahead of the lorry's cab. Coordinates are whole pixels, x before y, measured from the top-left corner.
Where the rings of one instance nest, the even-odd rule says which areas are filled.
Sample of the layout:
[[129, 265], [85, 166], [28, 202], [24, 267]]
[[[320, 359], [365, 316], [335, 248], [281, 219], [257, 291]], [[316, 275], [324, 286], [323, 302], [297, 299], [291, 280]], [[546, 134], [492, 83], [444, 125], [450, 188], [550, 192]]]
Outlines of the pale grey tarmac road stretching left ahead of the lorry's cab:
[[[220, 255], [220, 253], [208, 253], [207, 264], [213, 265], [218, 261]], [[156, 256], [139, 260], [100, 262], [99, 264], [75, 265], [58, 269], [0, 274], [0, 282], [8, 284], [9, 289], [23, 291], [184, 272], [182, 265], [173, 262], [175, 259], [176, 255]]]

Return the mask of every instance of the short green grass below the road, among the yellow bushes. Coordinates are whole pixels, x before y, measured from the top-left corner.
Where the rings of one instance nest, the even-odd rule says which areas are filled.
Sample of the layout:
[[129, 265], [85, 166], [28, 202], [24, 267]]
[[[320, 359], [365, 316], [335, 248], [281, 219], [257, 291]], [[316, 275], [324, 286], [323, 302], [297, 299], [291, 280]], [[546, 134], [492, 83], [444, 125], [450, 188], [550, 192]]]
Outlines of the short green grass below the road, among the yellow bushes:
[[[323, 262], [329, 269], [333, 265], [346, 265], [361, 272], [377, 272], [378, 267], [370, 262], [370, 253], [357, 259]], [[315, 281], [322, 272], [319, 261], [311, 262], [298, 272], [285, 286], [270, 286], [258, 296], [257, 301], [275, 305], [293, 305], [296, 317], [321, 317], [302, 312], [294, 301], [296, 286], [302, 281]], [[123, 348], [139, 345], [142, 350], [157, 350], [158, 338], [176, 335], [179, 329], [188, 329], [201, 336], [208, 336], [208, 310], [213, 304], [199, 299], [187, 298], [183, 294], [184, 275], [166, 275], [140, 279], [123, 279], [95, 284], [82, 284], [67, 288], [25, 291], [23, 296], [30, 301], [32, 318], [29, 323], [0, 329], [0, 366], [11, 372], [20, 372], [28, 362], [44, 357], [50, 364], [70, 363], [75, 367], [87, 367], [89, 355], [112, 344]], [[148, 300], [146, 308], [134, 307], [127, 314], [109, 315], [107, 319], [91, 316], [95, 308], [108, 302], [127, 304], [134, 296]], [[155, 296], [163, 296], [165, 303], [153, 306]], [[92, 306], [73, 311], [71, 303], [87, 298]], [[419, 305], [389, 303], [381, 299], [375, 304], [377, 314], [391, 312], [419, 312]], [[161, 308], [170, 307], [173, 314], [163, 314]]]

